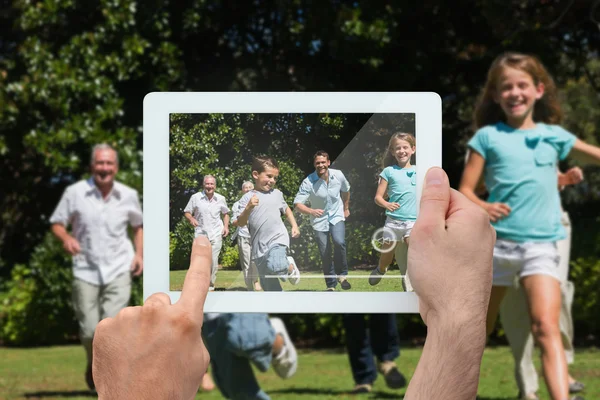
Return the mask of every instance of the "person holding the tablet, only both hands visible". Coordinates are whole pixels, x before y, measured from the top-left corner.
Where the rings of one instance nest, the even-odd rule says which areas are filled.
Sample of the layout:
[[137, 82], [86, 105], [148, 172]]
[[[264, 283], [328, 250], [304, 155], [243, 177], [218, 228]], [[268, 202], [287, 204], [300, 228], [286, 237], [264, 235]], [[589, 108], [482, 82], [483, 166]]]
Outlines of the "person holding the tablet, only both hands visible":
[[[408, 258], [427, 340], [406, 391], [410, 400], [473, 399], [485, 348], [495, 232], [481, 208], [432, 168]], [[464, 255], [469, 254], [465, 260]], [[94, 376], [101, 399], [191, 399], [209, 355], [200, 337], [210, 243], [194, 240], [176, 304], [165, 293], [100, 323]], [[460, 338], [460, 340], [457, 340]], [[148, 384], [151, 382], [152, 384]]]

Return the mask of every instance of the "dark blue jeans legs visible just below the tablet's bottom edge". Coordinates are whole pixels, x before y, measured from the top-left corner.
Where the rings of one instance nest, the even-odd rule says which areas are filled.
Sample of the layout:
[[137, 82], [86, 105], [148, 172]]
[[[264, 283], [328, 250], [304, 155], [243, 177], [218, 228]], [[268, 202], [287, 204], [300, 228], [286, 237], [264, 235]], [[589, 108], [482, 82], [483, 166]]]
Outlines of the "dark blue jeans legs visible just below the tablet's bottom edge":
[[357, 385], [372, 384], [377, 379], [379, 362], [393, 361], [400, 355], [400, 337], [395, 314], [370, 314], [369, 322], [365, 314], [344, 314], [346, 348], [352, 368], [352, 376]]

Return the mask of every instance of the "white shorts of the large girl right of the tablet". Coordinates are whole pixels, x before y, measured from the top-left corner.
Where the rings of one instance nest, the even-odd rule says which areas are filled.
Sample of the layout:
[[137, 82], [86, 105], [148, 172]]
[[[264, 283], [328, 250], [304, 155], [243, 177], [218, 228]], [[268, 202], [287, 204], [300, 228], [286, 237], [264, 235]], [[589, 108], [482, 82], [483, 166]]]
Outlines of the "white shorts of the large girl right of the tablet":
[[494, 286], [512, 286], [515, 277], [549, 275], [560, 281], [556, 242], [517, 243], [498, 239], [494, 246]]

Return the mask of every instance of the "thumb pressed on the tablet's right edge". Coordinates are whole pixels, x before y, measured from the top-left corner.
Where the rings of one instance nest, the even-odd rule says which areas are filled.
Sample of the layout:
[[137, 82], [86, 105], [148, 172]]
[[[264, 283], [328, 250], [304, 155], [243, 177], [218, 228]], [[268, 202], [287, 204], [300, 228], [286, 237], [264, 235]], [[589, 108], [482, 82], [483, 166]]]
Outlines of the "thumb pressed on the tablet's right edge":
[[429, 169], [425, 175], [421, 209], [415, 222], [415, 230], [444, 230], [449, 202], [450, 184], [446, 172], [438, 167]]

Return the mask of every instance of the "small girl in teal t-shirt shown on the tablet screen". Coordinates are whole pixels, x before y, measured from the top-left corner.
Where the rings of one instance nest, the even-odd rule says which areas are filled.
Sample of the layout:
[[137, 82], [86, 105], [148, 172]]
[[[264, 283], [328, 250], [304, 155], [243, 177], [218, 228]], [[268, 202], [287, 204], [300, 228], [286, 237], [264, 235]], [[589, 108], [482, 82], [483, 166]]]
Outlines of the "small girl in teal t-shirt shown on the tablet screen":
[[[390, 138], [388, 148], [383, 155], [379, 186], [375, 194], [375, 203], [385, 208], [387, 218], [383, 229], [384, 245], [381, 249], [379, 265], [371, 272], [369, 284], [377, 285], [387, 272], [394, 259], [394, 249], [398, 253], [396, 262], [404, 274], [402, 287], [412, 291], [406, 273], [406, 247], [410, 231], [417, 218], [416, 170], [410, 160], [415, 154], [415, 137], [409, 133], [395, 133]], [[383, 196], [387, 191], [386, 201]], [[398, 246], [397, 246], [398, 244]]]

